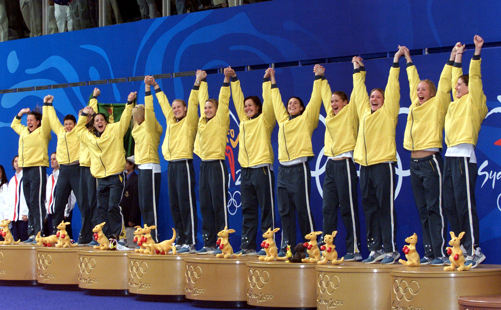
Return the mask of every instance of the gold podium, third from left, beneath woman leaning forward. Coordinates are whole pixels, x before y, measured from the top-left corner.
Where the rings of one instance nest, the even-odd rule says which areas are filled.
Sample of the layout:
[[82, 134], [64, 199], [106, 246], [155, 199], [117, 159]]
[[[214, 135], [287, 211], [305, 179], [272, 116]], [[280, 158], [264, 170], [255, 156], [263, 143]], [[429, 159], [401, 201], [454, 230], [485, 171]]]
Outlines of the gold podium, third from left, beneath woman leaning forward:
[[90, 294], [129, 295], [129, 259], [132, 250], [78, 250], [78, 286]]

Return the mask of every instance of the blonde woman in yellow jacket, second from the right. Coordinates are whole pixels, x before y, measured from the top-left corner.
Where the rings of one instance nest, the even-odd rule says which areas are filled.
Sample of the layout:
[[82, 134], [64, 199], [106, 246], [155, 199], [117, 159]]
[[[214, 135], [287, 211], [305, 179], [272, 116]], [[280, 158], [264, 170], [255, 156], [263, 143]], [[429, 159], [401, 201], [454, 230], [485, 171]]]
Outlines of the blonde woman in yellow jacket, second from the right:
[[447, 218], [442, 203], [443, 160], [440, 151], [445, 113], [450, 103], [450, 78], [455, 55], [454, 47], [442, 70], [437, 89], [432, 81], [419, 79], [409, 50], [404, 49], [411, 99], [404, 148], [411, 151], [410, 179], [423, 230], [422, 265], [441, 266], [447, 259]]

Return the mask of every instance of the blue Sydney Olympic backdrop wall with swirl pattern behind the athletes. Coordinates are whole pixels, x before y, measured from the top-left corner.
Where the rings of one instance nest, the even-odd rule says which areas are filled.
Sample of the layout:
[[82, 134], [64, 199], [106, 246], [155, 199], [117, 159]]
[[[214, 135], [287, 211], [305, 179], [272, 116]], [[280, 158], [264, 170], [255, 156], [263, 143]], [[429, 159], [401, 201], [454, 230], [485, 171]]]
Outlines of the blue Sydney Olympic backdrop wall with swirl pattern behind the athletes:
[[[192, 13], [168, 18], [145, 20], [136, 23], [89, 29], [71, 33], [56, 34], [12, 42], [0, 46], [0, 89], [45, 86], [53, 84], [96, 81], [114, 78], [142, 76], [146, 74], [178, 73], [196, 69], [215, 69], [228, 65], [266, 68], [271, 63], [286, 63], [277, 68], [277, 81], [282, 96], [292, 95], [309, 101], [313, 86], [313, 61], [326, 62], [351, 59], [353, 55], [375, 54], [365, 61], [367, 68], [367, 88], [385, 87], [392, 54], [397, 45], [410, 49], [440, 48], [453, 46], [457, 41], [472, 43], [475, 34], [483, 36], [485, 42], [501, 41], [501, 21], [495, 15], [500, 4], [493, 1], [471, 3], [468, 1], [395, 1], [391, 6], [386, 2], [359, 1], [345, 5], [340, 1], [299, 1], [276, 0], [267, 3], [246, 5], [224, 10]], [[458, 8], [461, 8], [459, 10]], [[279, 14], [287, 12], [287, 14]], [[319, 13], [320, 12], [320, 13]], [[326, 13], [329, 13], [326, 15]], [[375, 17], [374, 17], [375, 15]], [[460, 22], [460, 27], [456, 27]], [[456, 33], [458, 32], [458, 33]], [[495, 44], [493, 44], [495, 46]], [[491, 46], [493, 46], [491, 44]], [[390, 51], [391, 52], [390, 54]], [[413, 56], [414, 64], [422, 78], [438, 82], [440, 71], [449, 53]], [[472, 51], [464, 55], [464, 72], [468, 71]], [[389, 58], [387, 58], [389, 57]], [[501, 263], [496, 257], [501, 245], [501, 189], [497, 181], [501, 178], [501, 114], [500, 70], [494, 64], [501, 57], [501, 48], [485, 48], [482, 52], [482, 75], [484, 92], [487, 96], [489, 113], [479, 134], [476, 156], [478, 178], [476, 201], [480, 219], [480, 246], [487, 255], [486, 262]], [[303, 66], [298, 66], [302, 64]], [[309, 65], [305, 65], [309, 64]], [[420, 224], [414, 204], [409, 178], [410, 153], [403, 149], [403, 132], [410, 105], [409, 87], [405, 73], [405, 62], [401, 60], [400, 74], [401, 109], [397, 126], [397, 241], [413, 232], [420, 238]], [[326, 76], [331, 88], [350, 93], [352, 90], [352, 64], [349, 61], [325, 65]], [[245, 96], [261, 97], [264, 70], [238, 71]], [[222, 74], [210, 74], [209, 97], [217, 98], [222, 84]], [[194, 77], [158, 80], [170, 101], [175, 98], [187, 100]], [[106, 83], [106, 82], [104, 82]], [[87, 83], [88, 84], [88, 83]], [[94, 87], [102, 91], [101, 102], [125, 102], [131, 91], [138, 92], [138, 103], [144, 103], [142, 82], [125, 82], [81, 86], [49, 90], [33, 90], [0, 95], [0, 134], [3, 137], [3, 151], [0, 163], [11, 166], [17, 154], [18, 136], [10, 128], [14, 116], [25, 107], [42, 104], [42, 98], [51, 94], [54, 106], [62, 119], [64, 115], [76, 114], [87, 103]], [[498, 97], [499, 96], [499, 97]], [[165, 118], [155, 99], [157, 118], [165, 125]], [[230, 171], [227, 209], [229, 222], [236, 232], [231, 243], [237, 248], [240, 241], [240, 167], [238, 158], [238, 121], [230, 103], [231, 122], [228, 144], [231, 147], [227, 158]], [[313, 148], [317, 156], [310, 161], [312, 170], [311, 205], [315, 214], [317, 230], [322, 229], [322, 183], [325, 157], [323, 156], [324, 117], [322, 108], [318, 129], [313, 134]], [[25, 122], [25, 119], [23, 120]], [[277, 129], [272, 136], [275, 154], [278, 154]], [[162, 135], [163, 141], [163, 135]], [[49, 145], [49, 153], [56, 149], [56, 138]], [[443, 152], [442, 152], [443, 154]], [[162, 156], [160, 156], [162, 157]], [[195, 156], [196, 157], [196, 156]], [[199, 159], [194, 166], [198, 174]], [[170, 237], [173, 223], [170, 216], [167, 193], [167, 162], [161, 158], [162, 185], [159, 204], [159, 226], [161, 238]], [[275, 163], [275, 171], [278, 161]], [[8, 176], [13, 171], [7, 168]], [[48, 170], [49, 171], [49, 170]], [[498, 184], [496, 184], [496, 181]], [[198, 186], [198, 184], [197, 184]], [[198, 187], [197, 190], [198, 192]], [[198, 197], [198, 194], [197, 194]], [[359, 199], [360, 200], [360, 199]], [[359, 205], [361, 203], [359, 201]], [[276, 219], [280, 226], [278, 212]], [[365, 222], [360, 207], [362, 236]], [[73, 226], [78, 229], [80, 215], [75, 211]], [[199, 218], [199, 237], [201, 216]], [[74, 229], [75, 229], [74, 228]], [[345, 253], [345, 229], [341, 220], [338, 224], [336, 243], [341, 254]], [[76, 230], [75, 230], [76, 231]], [[365, 238], [362, 242], [365, 244]], [[261, 237], [258, 235], [258, 244]], [[419, 251], [422, 245], [419, 242]], [[367, 255], [365, 245], [363, 255]]]

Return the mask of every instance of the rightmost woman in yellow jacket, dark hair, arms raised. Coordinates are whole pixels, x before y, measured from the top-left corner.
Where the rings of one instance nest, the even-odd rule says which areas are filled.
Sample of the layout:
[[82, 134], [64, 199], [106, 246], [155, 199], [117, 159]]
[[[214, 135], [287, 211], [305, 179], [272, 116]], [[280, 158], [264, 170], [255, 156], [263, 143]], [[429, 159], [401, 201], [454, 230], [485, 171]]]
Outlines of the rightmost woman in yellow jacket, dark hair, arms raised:
[[466, 254], [465, 265], [476, 267], [485, 259], [480, 251], [478, 215], [475, 204], [477, 176], [475, 145], [483, 119], [487, 115], [486, 98], [480, 75], [480, 51], [483, 39], [473, 38], [475, 53], [470, 61], [469, 75], [462, 75], [461, 60], [465, 45], [456, 45], [457, 53], [452, 68], [454, 101], [445, 115], [445, 152], [443, 191], [444, 204], [450, 228], [461, 239]]

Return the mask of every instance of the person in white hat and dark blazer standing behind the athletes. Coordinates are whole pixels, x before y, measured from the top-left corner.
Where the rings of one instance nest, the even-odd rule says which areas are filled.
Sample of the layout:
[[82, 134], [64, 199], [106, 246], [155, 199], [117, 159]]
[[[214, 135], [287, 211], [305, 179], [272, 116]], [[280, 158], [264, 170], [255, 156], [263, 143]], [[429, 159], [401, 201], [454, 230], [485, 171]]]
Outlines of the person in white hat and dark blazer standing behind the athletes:
[[124, 194], [122, 196], [122, 201], [120, 202], [120, 207], [122, 208], [122, 215], [124, 217], [125, 225], [125, 238], [128, 241], [128, 246], [135, 246], [134, 242], [134, 226], [141, 226], [141, 212], [139, 211], [139, 195], [137, 187], [137, 174], [134, 171], [136, 169], [136, 163], [134, 160], [134, 155], [127, 157], [125, 160], [125, 170], [126, 178]]

